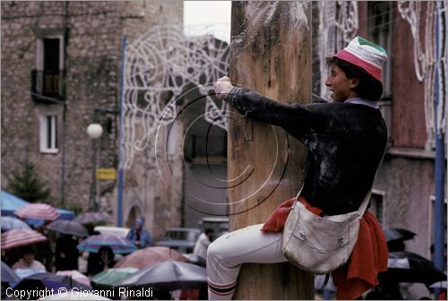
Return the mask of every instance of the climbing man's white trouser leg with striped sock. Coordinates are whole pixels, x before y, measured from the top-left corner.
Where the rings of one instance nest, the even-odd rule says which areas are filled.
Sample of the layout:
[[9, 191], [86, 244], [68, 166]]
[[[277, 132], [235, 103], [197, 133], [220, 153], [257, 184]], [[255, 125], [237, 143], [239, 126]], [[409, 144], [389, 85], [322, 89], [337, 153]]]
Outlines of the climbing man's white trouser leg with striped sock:
[[237, 287], [241, 264], [288, 261], [281, 253], [283, 233], [264, 233], [263, 224], [220, 236], [207, 250], [210, 300], [229, 300]]

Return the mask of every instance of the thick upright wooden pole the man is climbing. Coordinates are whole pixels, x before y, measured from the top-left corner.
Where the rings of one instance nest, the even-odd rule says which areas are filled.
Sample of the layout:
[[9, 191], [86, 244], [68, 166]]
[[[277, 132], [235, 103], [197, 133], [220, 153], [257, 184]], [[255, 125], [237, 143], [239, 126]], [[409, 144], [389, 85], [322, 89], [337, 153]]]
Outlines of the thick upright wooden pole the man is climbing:
[[[311, 99], [311, 2], [232, 2], [230, 79], [270, 99]], [[230, 229], [263, 223], [303, 182], [306, 148], [284, 130], [228, 120]], [[289, 262], [244, 264], [235, 299], [314, 299], [313, 274]]]

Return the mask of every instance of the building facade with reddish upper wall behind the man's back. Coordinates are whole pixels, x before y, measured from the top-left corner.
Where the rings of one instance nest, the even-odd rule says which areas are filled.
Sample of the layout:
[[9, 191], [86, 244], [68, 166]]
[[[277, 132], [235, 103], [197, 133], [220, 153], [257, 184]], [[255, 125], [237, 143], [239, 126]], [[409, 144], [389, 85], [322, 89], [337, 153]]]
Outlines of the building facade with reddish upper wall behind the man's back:
[[[434, 137], [426, 133], [425, 85], [428, 76], [423, 81], [418, 80], [414, 65], [415, 40], [398, 6], [397, 2], [358, 3], [358, 34], [374, 39], [389, 53], [383, 76], [384, 95], [380, 101], [388, 124], [389, 148], [378, 172], [373, 195], [383, 228], [407, 228], [415, 232], [417, 235], [406, 242], [407, 250], [431, 258], [435, 145], [431, 142]], [[428, 3], [422, 3], [418, 12], [422, 20], [426, 18], [427, 7]], [[423, 26], [420, 32], [424, 39]], [[444, 185], [446, 191], [446, 181]], [[446, 236], [446, 215], [444, 234]]]

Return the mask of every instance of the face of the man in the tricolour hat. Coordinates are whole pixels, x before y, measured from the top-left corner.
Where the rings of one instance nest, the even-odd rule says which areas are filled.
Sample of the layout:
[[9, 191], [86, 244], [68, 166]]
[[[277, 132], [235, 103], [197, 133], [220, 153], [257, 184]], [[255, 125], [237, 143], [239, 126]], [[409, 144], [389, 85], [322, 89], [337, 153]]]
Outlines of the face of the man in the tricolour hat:
[[332, 99], [336, 102], [344, 102], [346, 99], [357, 97], [358, 93], [353, 90], [358, 85], [358, 80], [349, 79], [336, 64], [332, 65], [330, 76], [325, 81], [325, 86], [330, 87]]

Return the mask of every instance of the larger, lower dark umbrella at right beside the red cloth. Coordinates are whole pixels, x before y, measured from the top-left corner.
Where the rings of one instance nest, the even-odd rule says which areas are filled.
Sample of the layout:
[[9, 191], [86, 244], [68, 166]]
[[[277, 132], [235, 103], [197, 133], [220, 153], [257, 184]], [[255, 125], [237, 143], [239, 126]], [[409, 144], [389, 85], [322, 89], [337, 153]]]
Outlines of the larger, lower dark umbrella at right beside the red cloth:
[[446, 281], [444, 272], [437, 269], [433, 262], [407, 251], [391, 252], [387, 271], [380, 274], [380, 277], [384, 281], [425, 283], [426, 286], [437, 281]]

